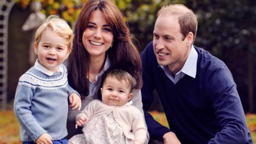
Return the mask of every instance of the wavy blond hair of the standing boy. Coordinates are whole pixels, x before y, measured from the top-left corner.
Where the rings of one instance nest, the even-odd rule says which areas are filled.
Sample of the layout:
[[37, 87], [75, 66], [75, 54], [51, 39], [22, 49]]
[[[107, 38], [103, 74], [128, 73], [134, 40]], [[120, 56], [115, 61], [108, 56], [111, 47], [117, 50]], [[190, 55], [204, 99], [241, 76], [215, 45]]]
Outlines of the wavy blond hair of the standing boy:
[[71, 50], [74, 34], [73, 30], [64, 19], [59, 18], [57, 15], [50, 15], [46, 19], [46, 22], [36, 30], [36, 43], [40, 42], [41, 35], [46, 28], [51, 28], [56, 35], [66, 38], [68, 50]]

